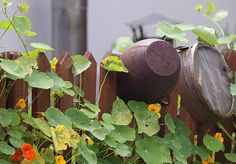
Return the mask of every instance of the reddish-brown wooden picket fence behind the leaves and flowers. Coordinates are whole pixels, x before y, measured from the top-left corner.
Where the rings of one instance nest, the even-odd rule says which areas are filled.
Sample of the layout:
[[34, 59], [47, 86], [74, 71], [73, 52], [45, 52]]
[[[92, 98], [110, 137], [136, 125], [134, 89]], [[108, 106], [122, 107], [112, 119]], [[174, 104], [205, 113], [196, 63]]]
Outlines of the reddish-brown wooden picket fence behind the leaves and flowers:
[[[85, 92], [85, 98], [89, 100], [92, 103], [95, 103], [96, 101], [96, 80], [99, 78], [100, 84], [103, 81], [106, 70], [102, 67], [100, 68], [100, 77], [97, 77], [97, 63], [93, 57], [93, 55], [90, 52], [85, 53], [86, 58], [92, 63], [90, 68], [82, 73], [82, 89]], [[6, 55], [6, 58], [14, 59], [16, 57], [8, 56]], [[79, 77], [73, 78], [72, 75], [72, 66], [73, 62], [68, 53], [63, 53], [59, 59], [58, 63], [56, 65], [56, 73], [64, 80], [71, 81], [74, 83], [74, 81], [79, 81]], [[51, 66], [50, 63], [44, 53], [40, 53], [38, 57], [38, 67], [39, 70], [42, 72], [50, 71]], [[10, 88], [3, 90], [4, 86], [6, 84], [9, 84]], [[107, 76], [107, 79], [104, 83], [100, 101], [99, 101], [99, 107], [101, 109], [101, 114], [106, 112], [109, 113], [112, 109], [112, 104], [117, 96], [117, 88], [116, 88], [116, 73], [110, 72]], [[0, 98], [0, 107], [1, 108], [14, 108], [20, 98], [26, 98], [28, 97], [28, 85], [23, 80], [17, 80], [13, 83], [11, 80], [2, 80], [0, 83], [0, 91], [3, 92], [1, 94]], [[44, 112], [48, 107], [50, 107], [50, 90], [41, 90], [41, 89], [32, 89], [32, 113], [34, 116], [37, 115], [38, 112]], [[167, 107], [163, 107], [162, 117], [160, 119], [160, 122], [164, 122], [164, 115], [165, 113], [169, 113], [174, 119], [180, 118], [182, 119], [187, 126], [191, 129], [192, 133], [190, 136], [191, 141], [196, 141], [197, 136], [197, 142], [199, 145], [202, 144], [203, 136], [208, 132], [210, 134], [214, 134], [215, 132], [219, 132], [220, 129], [217, 129], [217, 127], [210, 122], [204, 122], [200, 123], [196, 120], [194, 120], [191, 115], [188, 113], [188, 111], [181, 106], [180, 110], [177, 112], [177, 97], [178, 97], [178, 84], [176, 85], [175, 89], [170, 94], [171, 97], [171, 103]], [[73, 98], [64, 95], [63, 97], [59, 98], [59, 100], [56, 101], [55, 106], [60, 109], [61, 111], [65, 111], [67, 108], [73, 106]], [[101, 116], [101, 115], [100, 115]], [[224, 126], [229, 132], [235, 131], [233, 120], [235, 121], [235, 117], [229, 118], [224, 121]], [[163, 136], [167, 132], [167, 128], [165, 126], [162, 126], [161, 131], [159, 132], [160, 136]], [[231, 150], [231, 140], [223, 134], [225, 138], [225, 150], [227, 152], [230, 152]], [[225, 163], [223, 153], [219, 153], [216, 155], [216, 158], [218, 161]]]

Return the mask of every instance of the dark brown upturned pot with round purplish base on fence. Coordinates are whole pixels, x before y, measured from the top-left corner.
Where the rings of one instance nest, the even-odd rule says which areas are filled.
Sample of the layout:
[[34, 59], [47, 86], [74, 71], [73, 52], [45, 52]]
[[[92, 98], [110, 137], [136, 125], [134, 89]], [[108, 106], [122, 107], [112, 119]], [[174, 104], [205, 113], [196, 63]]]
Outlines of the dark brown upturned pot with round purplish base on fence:
[[173, 46], [163, 40], [146, 39], [121, 55], [129, 73], [118, 73], [118, 96], [124, 100], [167, 105], [177, 83], [180, 59]]

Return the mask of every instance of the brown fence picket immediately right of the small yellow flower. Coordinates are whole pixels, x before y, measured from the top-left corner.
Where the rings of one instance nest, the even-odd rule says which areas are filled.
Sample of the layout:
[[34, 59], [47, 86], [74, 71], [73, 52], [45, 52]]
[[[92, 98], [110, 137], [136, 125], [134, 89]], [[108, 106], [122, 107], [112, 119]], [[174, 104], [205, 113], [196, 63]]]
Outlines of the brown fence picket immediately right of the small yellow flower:
[[[56, 73], [63, 80], [70, 81], [73, 83], [73, 75], [72, 75], [72, 66], [73, 61], [68, 52], [63, 53], [56, 64]], [[59, 98], [55, 102], [55, 106], [61, 111], [65, 111], [66, 109], [73, 106], [73, 98], [67, 94], [64, 94], [63, 97]]]

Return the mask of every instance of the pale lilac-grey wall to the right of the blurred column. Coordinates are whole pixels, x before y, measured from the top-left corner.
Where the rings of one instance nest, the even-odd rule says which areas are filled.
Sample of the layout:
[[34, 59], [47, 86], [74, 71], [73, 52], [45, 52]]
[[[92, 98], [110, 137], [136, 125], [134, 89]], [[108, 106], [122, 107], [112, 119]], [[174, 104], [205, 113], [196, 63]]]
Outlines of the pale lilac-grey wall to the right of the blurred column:
[[[194, 11], [198, 3], [206, 0], [89, 0], [88, 49], [100, 60], [110, 50], [111, 43], [119, 36], [132, 36], [127, 22], [159, 13], [179, 21], [206, 24], [207, 21]], [[212, 0], [220, 9], [229, 10], [227, 29], [235, 31], [236, 1]], [[193, 43], [194, 40], [191, 40]], [[191, 44], [190, 43], [190, 44]]]

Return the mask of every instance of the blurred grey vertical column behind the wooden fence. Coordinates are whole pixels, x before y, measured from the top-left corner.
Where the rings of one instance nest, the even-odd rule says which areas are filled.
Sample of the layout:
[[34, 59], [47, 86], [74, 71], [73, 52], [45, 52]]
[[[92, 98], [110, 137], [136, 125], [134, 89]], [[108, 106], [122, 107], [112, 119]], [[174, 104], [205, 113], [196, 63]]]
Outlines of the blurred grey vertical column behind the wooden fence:
[[87, 48], [87, 0], [52, 0], [55, 54], [84, 54]]

